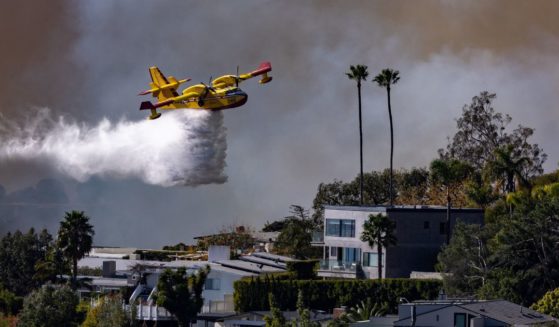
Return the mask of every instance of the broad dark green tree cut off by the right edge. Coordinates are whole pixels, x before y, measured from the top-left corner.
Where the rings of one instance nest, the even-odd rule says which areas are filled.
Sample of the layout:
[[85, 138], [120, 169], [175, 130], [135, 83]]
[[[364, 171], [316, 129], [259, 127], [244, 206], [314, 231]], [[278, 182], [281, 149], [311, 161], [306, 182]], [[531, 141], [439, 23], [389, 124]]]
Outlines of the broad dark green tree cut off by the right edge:
[[[514, 292], [516, 298], [533, 303], [550, 289], [559, 287], [559, 198], [553, 194], [521, 202], [510, 219], [502, 223], [494, 238], [495, 265], [507, 273], [513, 287], [503, 285], [500, 276], [486, 286], [493, 293]], [[501, 213], [509, 217], [508, 213]], [[490, 292], [486, 292], [490, 293]]]

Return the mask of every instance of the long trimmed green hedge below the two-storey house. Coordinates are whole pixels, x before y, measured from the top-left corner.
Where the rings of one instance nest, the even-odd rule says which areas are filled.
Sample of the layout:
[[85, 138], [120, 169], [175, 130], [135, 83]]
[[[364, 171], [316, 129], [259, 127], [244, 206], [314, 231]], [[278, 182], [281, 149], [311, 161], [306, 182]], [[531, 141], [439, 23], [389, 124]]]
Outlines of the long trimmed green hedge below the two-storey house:
[[313, 310], [331, 312], [333, 308], [352, 307], [371, 298], [387, 303], [391, 313], [395, 313], [400, 297], [408, 301], [432, 300], [441, 288], [440, 280], [427, 279], [282, 280], [265, 276], [236, 281], [234, 301], [237, 312], [267, 311], [270, 309], [268, 294], [273, 293], [281, 310], [295, 310], [297, 293], [301, 289]]

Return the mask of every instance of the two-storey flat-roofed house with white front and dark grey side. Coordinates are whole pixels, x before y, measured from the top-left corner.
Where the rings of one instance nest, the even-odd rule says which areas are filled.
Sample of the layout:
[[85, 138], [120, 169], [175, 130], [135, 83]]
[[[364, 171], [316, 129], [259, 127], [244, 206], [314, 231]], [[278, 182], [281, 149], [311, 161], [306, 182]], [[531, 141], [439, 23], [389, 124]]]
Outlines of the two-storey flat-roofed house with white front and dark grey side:
[[[434, 271], [441, 246], [446, 241], [446, 207], [440, 206], [325, 206], [324, 236], [313, 245], [322, 246], [322, 277], [378, 277], [378, 250], [361, 241], [363, 224], [369, 215], [380, 214], [396, 224], [397, 244], [383, 249], [382, 274], [408, 278], [412, 271]], [[457, 221], [483, 224], [481, 209], [453, 208], [450, 231]]]

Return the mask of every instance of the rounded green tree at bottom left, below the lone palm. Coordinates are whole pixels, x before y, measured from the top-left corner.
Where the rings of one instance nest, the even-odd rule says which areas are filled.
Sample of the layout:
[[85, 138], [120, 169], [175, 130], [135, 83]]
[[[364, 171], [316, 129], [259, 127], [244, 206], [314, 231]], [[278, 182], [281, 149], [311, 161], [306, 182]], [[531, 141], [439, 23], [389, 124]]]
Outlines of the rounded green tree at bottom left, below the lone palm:
[[43, 285], [25, 298], [18, 326], [77, 326], [78, 302], [78, 296], [68, 286]]

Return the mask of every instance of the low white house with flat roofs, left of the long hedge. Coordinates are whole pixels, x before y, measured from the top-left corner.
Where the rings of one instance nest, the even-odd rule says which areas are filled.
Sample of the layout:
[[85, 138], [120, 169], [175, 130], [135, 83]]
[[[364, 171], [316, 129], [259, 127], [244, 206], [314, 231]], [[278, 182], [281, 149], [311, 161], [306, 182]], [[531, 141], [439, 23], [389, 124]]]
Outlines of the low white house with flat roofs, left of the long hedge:
[[[112, 254], [108, 258], [100, 254], [93, 255], [96, 256], [87, 256], [78, 262], [79, 268], [101, 268], [103, 271], [103, 276], [82, 276], [89, 279], [89, 284], [93, 286], [92, 291], [105, 293], [120, 291], [124, 287], [132, 288], [133, 292], [128, 302], [137, 303], [137, 319], [147, 322], [174, 320], [172, 315], [157, 307], [153, 301], [159, 275], [165, 269], [185, 268], [187, 273], [196, 273], [209, 266], [210, 273], [202, 293], [202, 314], [207, 317], [220, 317], [234, 314], [235, 281], [261, 273], [285, 271], [286, 262], [292, 260], [268, 253], [253, 253], [242, 256], [239, 260], [230, 260], [228, 247], [210, 248], [208, 261], [149, 261], [115, 258]], [[206, 323], [207, 321], [201, 321], [199, 325], [213, 326]]]

